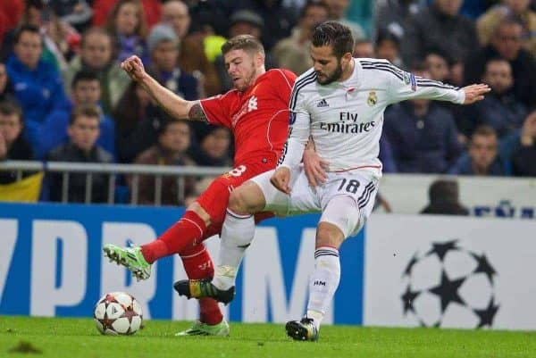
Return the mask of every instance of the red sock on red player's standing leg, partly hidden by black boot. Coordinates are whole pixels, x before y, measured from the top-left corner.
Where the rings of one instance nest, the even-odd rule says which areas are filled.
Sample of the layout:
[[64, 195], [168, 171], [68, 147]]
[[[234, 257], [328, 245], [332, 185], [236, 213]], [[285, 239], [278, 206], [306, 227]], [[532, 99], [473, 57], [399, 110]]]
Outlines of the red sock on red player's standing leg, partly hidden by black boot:
[[[214, 264], [205, 249], [205, 245], [199, 244], [188, 247], [180, 252], [180, 258], [188, 279], [212, 279], [214, 277]], [[223, 319], [220, 306], [212, 298], [201, 298], [199, 300], [199, 311], [199, 321], [206, 324], [218, 324]]]

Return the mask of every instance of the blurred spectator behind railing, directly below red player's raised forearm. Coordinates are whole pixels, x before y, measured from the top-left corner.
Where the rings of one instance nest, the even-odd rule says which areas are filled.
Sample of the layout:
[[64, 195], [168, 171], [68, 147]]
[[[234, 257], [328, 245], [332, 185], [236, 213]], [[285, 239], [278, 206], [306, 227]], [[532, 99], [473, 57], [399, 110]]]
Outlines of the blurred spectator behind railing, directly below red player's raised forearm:
[[[139, 154], [134, 162], [150, 165], [195, 165], [195, 162], [186, 154], [189, 145], [190, 130], [188, 122], [164, 120], [158, 130], [158, 143]], [[184, 179], [184, 197], [191, 196], [195, 190], [195, 180], [190, 177]], [[178, 181], [179, 177], [177, 176], [165, 176], [162, 178], [161, 204], [184, 205], [184, 200], [180, 200]], [[130, 180], [130, 191], [133, 193], [134, 190], [135, 187], [132, 187], [132, 180]], [[155, 194], [155, 176], [140, 175], [138, 180], [138, 203], [155, 204]]]

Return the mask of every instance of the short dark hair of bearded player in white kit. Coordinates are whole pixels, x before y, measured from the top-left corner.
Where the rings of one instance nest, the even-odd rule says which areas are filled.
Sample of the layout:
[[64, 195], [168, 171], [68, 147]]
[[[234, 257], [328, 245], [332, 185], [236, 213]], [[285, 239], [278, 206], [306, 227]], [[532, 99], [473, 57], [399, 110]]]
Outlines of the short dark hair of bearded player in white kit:
[[314, 47], [331, 46], [338, 59], [354, 52], [352, 31], [337, 21], [325, 21], [318, 25], [314, 29], [312, 42]]

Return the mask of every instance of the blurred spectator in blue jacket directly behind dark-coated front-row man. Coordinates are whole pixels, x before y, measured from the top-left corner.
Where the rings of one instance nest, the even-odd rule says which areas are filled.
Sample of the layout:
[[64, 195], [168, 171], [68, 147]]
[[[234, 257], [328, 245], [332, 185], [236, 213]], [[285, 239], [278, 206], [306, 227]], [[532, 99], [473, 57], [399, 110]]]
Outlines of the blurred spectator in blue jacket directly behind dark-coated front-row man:
[[115, 124], [105, 115], [98, 104], [101, 86], [96, 74], [90, 71], [79, 71], [72, 79], [71, 101], [48, 115], [39, 129], [39, 148], [37, 157], [42, 158], [56, 146], [69, 141], [67, 129], [74, 109], [80, 105], [95, 106], [99, 109], [99, 133], [96, 140], [110, 154], [115, 154]]

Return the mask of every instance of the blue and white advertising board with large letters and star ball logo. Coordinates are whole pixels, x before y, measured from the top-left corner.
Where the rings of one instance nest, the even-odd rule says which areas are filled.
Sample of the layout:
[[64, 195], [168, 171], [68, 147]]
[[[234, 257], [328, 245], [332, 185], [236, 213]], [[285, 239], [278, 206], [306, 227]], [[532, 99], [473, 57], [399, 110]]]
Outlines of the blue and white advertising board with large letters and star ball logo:
[[[146, 318], [194, 320], [179, 297], [178, 256], [151, 279], [102, 256], [105, 243], [141, 245], [182, 213], [174, 208], [0, 204], [0, 314], [91, 316], [111, 291], [135, 296]], [[231, 321], [283, 322], [306, 309], [317, 215], [264, 221], [238, 278]], [[381, 326], [536, 329], [536, 221], [373, 213], [341, 249], [341, 282], [326, 321]], [[217, 257], [218, 238], [207, 240]]]

